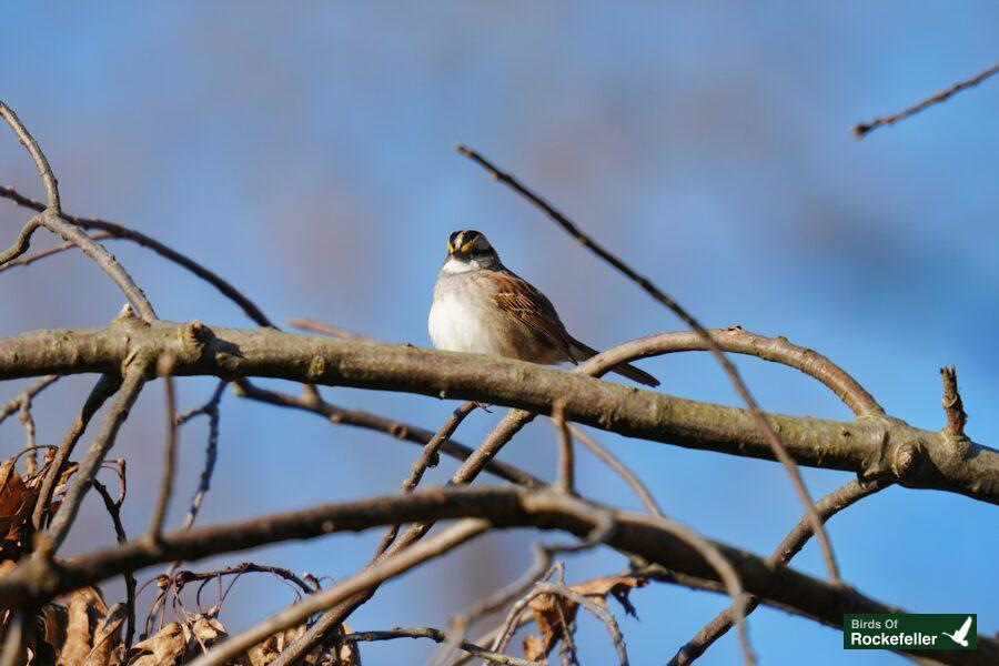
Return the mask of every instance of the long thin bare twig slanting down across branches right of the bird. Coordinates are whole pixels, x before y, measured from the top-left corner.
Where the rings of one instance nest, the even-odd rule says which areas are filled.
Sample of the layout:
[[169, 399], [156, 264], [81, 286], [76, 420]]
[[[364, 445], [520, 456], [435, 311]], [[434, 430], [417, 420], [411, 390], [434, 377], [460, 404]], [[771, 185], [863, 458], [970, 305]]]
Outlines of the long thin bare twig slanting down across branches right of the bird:
[[500, 171], [495, 165], [493, 165], [492, 162], [465, 145], [458, 145], [457, 150], [463, 155], [470, 158], [472, 161], [485, 169], [493, 179], [498, 180], [506, 186], [511, 188], [514, 192], [541, 209], [549, 219], [552, 219], [569, 235], [579, 241], [583, 246], [591, 250], [597, 256], [609, 263], [613, 268], [617, 269], [617, 271], [629, 278], [638, 286], [640, 286], [643, 291], [645, 291], [653, 299], [673, 311], [673, 313], [676, 314], [687, 326], [697, 332], [702, 340], [704, 340], [705, 344], [708, 345], [712, 355], [714, 355], [718, 363], [722, 365], [725, 374], [728, 375], [728, 379], [731, 381], [736, 393], [739, 394], [739, 397], [741, 397], [743, 402], [746, 403], [746, 406], [751, 412], [757, 426], [759, 427], [760, 432], [764, 434], [767, 443], [773, 450], [774, 456], [778, 461], [780, 461], [780, 463], [787, 470], [788, 476], [790, 477], [791, 483], [795, 486], [795, 491], [798, 493], [798, 497], [800, 498], [801, 504], [805, 506], [809, 519], [811, 521], [813, 527], [815, 527], [816, 534], [818, 535], [829, 578], [833, 581], [839, 581], [839, 567], [836, 564], [836, 557], [833, 555], [833, 545], [829, 543], [829, 536], [826, 534], [825, 528], [823, 527], [823, 522], [821, 519], [819, 519], [818, 513], [816, 513], [815, 511], [811, 495], [809, 494], [808, 488], [805, 486], [805, 482], [801, 478], [801, 473], [798, 470], [795, 460], [787, 453], [787, 448], [784, 446], [784, 443], [780, 441], [777, 432], [770, 425], [770, 422], [767, 421], [766, 415], [764, 415], [763, 411], [759, 408], [756, 400], [749, 393], [749, 389], [746, 386], [746, 383], [743, 381], [736, 366], [718, 347], [718, 345], [712, 339], [712, 335], [702, 325], [702, 323], [694, 319], [694, 316], [689, 312], [687, 312], [686, 309], [682, 307], [679, 303], [677, 303], [673, 297], [670, 297], [664, 291], [653, 284], [653, 282], [648, 278], [638, 274], [634, 269], [632, 269], [619, 258], [597, 244], [591, 236], [588, 236], [578, 226], [576, 226], [574, 222], [572, 222], [563, 213], [556, 210], [547, 201], [521, 184], [521, 182], [513, 178], [511, 174]]

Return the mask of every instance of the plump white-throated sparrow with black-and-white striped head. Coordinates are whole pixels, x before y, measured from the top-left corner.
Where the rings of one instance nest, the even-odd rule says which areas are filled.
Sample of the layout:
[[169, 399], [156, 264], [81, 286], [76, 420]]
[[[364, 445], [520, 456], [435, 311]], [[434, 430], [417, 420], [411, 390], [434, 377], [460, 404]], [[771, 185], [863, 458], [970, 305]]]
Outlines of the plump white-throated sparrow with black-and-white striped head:
[[[552, 302], [507, 269], [478, 231], [455, 231], [437, 273], [427, 320], [438, 350], [494, 354], [532, 363], [573, 363], [597, 351], [572, 335]], [[612, 369], [639, 384], [658, 386], [653, 375], [623, 363]]]

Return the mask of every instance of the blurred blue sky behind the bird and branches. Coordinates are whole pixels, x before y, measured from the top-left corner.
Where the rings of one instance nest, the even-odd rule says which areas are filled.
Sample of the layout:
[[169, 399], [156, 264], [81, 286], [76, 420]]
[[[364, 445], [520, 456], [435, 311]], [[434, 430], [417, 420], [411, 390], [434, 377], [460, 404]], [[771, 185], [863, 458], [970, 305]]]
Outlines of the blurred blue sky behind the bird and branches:
[[[999, 6], [931, 2], [4, 3], [0, 99], [47, 151], [64, 208], [133, 225], [212, 266], [276, 322], [312, 316], [392, 341], [428, 344], [426, 312], [447, 234], [487, 233], [507, 265], [556, 303], [581, 339], [607, 346], [679, 324], [453, 151], [465, 142], [544, 193], [708, 325], [739, 323], [815, 347], [892, 414], [942, 424], [937, 369], [955, 363], [976, 441], [999, 442], [995, 261], [999, 81], [862, 142], [849, 128], [901, 109], [997, 59]], [[16, 141], [0, 135], [0, 181], [40, 195]], [[10, 239], [24, 213], [0, 205]], [[151, 254], [114, 245], [161, 316], [246, 325], [241, 313]], [[0, 334], [107, 322], [121, 296], [77, 256], [0, 280]], [[791, 371], [739, 359], [769, 410], [847, 418]], [[643, 363], [663, 390], [735, 404], [704, 355]], [[56, 442], [89, 379], [39, 400]], [[195, 405], [210, 382], [180, 384]], [[294, 390], [289, 386], [287, 389]], [[10, 387], [6, 393], [13, 393]], [[436, 427], [451, 403], [327, 390], [330, 400]], [[476, 415], [475, 443], [500, 414]], [[152, 386], [112, 455], [129, 458], [125, 519], [142, 529], [162, 446]], [[784, 472], [598, 433], [643, 472], [665, 511], [702, 533], [766, 554], [799, 515]], [[6, 452], [18, 424], [0, 430]], [[185, 428], [182, 519], [203, 456]], [[503, 456], [552, 476], [555, 436], [532, 425]], [[219, 466], [201, 521], [394, 492], [416, 450], [306, 414], [223, 402]], [[430, 481], [443, 481], [444, 463]], [[848, 475], [807, 470], [820, 495]], [[581, 455], [579, 485], [634, 506]], [[110, 543], [93, 503], [74, 551]], [[894, 488], [829, 525], [846, 578], [919, 612], [977, 612], [999, 628], [995, 507]], [[383, 588], [362, 629], [442, 626], [516, 577], [531, 535], [491, 536]], [[246, 557], [342, 577], [377, 535], [290, 544]], [[221, 561], [220, 561], [221, 562]], [[211, 566], [206, 563], [204, 566]], [[571, 581], [619, 568], [613, 554], [571, 559]], [[808, 546], [795, 561], [821, 575]], [[199, 565], [199, 568], [201, 565]], [[109, 594], [118, 588], [108, 586]], [[249, 577], [223, 619], [245, 626], [290, 599]], [[724, 599], [674, 587], [637, 592], [623, 619], [634, 663], [662, 663]], [[618, 614], [623, 616], [623, 614]], [[760, 609], [763, 663], [895, 664], [845, 654], [838, 632]], [[613, 655], [583, 623], [586, 663]], [[370, 663], [423, 660], [416, 643], [365, 646]], [[726, 637], [705, 664], [728, 664]]]

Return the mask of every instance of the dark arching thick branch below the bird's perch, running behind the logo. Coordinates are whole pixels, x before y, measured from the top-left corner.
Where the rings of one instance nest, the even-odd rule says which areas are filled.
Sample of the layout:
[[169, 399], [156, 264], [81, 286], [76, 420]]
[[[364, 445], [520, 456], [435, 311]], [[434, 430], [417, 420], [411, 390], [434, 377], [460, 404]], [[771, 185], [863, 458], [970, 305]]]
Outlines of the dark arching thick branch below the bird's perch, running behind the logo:
[[[261, 516], [240, 523], [195, 527], [104, 548], [67, 562], [30, 561], [0, 578], [0, 605], [32, 606], [124, 571], [175, 559], [198, 559], [289, 539], [356, 532], [396, 522], [484, 518], [496, 527], [559, 529], [587, 537], [609, 517], [614, 528], [605, 543], [639, 555], [680, 576], [718, 581], [717, 572], [686, 539], [663, 529], [648, 514], [609, 509], [554, 491], [514, 487], [446, 487], [391, 495], [347, 504]], [[848, 586], [828, 583], [790, 568], [775, 569], [766, 558], [722, 543], [714, 546], [731, 564], [743, 587], [766, 603], [793, 609], [840, 628], [844, 613], [889, 613], [898, 608]], [[935, 653], [947, 663], [989, 663], [999, 643], [979, 637], [977, 653]]]

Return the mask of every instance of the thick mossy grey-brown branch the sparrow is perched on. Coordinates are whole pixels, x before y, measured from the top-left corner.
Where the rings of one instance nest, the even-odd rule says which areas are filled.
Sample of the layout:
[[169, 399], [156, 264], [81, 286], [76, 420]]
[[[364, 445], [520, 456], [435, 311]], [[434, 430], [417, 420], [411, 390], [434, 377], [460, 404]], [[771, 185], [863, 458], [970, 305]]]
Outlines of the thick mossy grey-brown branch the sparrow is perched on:
[[[668, 336], [672, 334], [664, 334]], [[613, 354], [612, 352], [605, 352]], [[311, 384], [473, 400], [552, 414], [623, 435], [773, 460], [743, 408], [675, 397], [498, 356], [478, 356], [274, 330], [119, 317], [103, 329], [42, 330], [0, 340], [0, 380], [120, 373], [138, 354], [170, 354], [174, 375], [276, 377]], [[594, 361], [588, 367], [594, 367]], [[598, 361], [597, 361], [598, 363]], [[999, 452], [899, 420], [840, 422], [768, 414], [795, 461], [999, 504]]]

